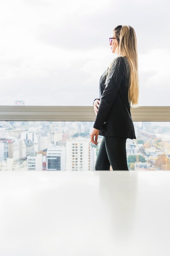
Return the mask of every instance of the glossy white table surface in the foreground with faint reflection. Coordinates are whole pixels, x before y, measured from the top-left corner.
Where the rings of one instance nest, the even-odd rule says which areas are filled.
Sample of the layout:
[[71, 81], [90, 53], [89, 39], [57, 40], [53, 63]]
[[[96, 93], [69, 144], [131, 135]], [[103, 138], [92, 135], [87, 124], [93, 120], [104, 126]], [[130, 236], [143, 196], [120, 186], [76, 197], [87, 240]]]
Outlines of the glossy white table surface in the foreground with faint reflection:
[[0, 172], [0, 256], [170, 256], [170, 171]]

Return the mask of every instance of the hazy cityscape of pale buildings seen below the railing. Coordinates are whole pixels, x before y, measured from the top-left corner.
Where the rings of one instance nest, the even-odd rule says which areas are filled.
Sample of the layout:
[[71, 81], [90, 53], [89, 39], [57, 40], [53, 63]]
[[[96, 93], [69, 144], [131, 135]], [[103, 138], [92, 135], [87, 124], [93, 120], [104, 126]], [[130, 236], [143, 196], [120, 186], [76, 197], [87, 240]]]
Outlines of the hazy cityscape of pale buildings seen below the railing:
[[[129, 170], [170, 170], [170, 124], [134, 126], [137, 139], [126, 142]], [[92, 144], [92, 129], [91, 121], [0, 121], [0, 171], [94, 171], [102, 136]]]

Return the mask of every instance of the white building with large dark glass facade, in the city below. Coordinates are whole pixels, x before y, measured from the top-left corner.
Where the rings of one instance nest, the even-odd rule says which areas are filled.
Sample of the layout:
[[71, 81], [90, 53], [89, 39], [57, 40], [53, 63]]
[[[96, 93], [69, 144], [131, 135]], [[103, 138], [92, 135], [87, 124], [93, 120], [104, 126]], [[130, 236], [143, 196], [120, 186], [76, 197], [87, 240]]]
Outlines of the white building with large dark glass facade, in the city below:
[[46, 170], [66, 170], [66, 149], [64, 146], [50, 146], [46, 151]]

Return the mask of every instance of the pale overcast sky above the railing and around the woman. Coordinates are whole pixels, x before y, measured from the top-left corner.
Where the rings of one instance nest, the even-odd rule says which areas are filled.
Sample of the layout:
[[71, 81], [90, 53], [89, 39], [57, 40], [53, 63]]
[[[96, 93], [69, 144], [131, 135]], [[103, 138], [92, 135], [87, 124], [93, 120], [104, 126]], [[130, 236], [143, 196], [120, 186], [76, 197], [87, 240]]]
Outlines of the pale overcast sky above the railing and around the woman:
[[117, 25], [135, 29], [139, 106], [169, 106], [168, 0], [5, 0], [0, 4], [0, 105], [91, 106], [115, 58]]

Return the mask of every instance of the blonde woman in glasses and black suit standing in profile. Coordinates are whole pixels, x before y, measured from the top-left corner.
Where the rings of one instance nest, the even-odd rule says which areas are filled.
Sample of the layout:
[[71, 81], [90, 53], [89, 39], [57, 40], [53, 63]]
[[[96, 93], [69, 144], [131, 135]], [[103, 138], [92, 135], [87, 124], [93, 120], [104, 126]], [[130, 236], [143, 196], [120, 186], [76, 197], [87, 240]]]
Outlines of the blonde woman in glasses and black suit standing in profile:
[[117, 26], [109, 38], [111, 51], [117, 57], [100, 79], [100, 98], [93, 106], [96, 114], [91, 142], [97, 145], [103, 135], [96, 170], [128, 170], [126, 139], [136, 139], [130, 105], [137, 106], [139, 97], [137, 41], [130, 26]]

